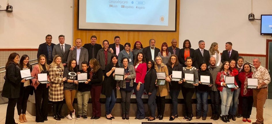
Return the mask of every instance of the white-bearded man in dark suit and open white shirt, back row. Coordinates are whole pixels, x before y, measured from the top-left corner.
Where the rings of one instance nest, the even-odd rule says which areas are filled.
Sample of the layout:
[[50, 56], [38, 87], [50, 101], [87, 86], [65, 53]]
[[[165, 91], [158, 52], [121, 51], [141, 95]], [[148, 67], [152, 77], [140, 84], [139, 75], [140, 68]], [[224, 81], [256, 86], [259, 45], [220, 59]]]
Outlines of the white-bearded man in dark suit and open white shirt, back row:
[[155, 47], [155, 40], [150, 39], [149, 40], [149, 46], [145, 47], [142, 52], [144, 53], [145, 60], [149, 61], [152, 59], [155, 62], [155, 57], [158, 56], [158, 53], [160, 52], [159, 48]]

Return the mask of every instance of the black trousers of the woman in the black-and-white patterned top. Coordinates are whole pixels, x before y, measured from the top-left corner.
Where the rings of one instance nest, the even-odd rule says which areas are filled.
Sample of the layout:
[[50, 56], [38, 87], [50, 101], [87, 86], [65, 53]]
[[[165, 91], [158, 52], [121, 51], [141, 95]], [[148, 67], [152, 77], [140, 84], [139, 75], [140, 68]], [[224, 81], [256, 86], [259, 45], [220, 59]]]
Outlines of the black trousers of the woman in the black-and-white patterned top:
[[185, 100], [185, 116], [193, 117], [192, 97], [195, 93], [195, 88], [181, 88], [182, 96]]

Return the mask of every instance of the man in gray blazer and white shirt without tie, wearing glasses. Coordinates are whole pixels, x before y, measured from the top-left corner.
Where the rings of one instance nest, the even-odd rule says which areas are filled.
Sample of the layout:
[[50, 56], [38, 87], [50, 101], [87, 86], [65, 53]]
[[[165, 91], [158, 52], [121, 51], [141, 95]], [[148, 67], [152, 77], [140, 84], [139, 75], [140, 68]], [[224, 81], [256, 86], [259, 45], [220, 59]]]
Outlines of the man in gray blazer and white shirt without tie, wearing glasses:
[[78, 69], [82, 70], [81, 63], [83, 61], [89, 61], [88, 50], [82, 47], [82, 40], [80, 38], [77, 38], [75, 40], [75, 44], [76, 44], [76, 48], [75, 50], [72, 50], [69, 52], [67, 62], [69, 62], [71, 59], [75, 59], [77, 61]]

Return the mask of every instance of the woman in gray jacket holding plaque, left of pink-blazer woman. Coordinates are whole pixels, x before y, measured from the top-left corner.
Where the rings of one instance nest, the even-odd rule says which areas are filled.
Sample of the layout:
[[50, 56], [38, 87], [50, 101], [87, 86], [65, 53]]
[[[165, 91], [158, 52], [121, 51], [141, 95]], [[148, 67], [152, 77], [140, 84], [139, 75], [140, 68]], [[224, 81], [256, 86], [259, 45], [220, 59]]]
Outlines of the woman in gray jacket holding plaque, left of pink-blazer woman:
[[[133, 65], [129, 65], [129, 59], [124, 57], [121, 59], [121, 63], [124, 67], [124, 80], [117, 82], [117, 89], [120, 90], [121, 93], [121, 108], [122, 108], [122, 119], [129, 119], [130, 112], [130, 97], [133, 90], [133, 82], [136, 76], [135, 69]], [[114, 76], [114, 74], [113, 74]], [[135, 117], [136, 119], [137, 117]], [[137, 118], [142, 119], [142, 118]], [[144, 118], [143, 118], [144, 119]]]

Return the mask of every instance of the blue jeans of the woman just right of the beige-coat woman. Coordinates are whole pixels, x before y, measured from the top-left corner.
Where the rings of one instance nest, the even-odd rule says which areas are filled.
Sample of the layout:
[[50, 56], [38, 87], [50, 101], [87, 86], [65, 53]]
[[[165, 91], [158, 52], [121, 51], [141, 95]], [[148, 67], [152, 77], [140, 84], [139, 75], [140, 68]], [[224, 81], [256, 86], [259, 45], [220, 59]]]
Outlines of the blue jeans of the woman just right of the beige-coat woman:
[[180, 90], [170, 90], [170, 96], [172, 99], [172, 104], [173, 104], [173, 110], [172, 110], [172, 116], [178, 115], [178, 94]]

